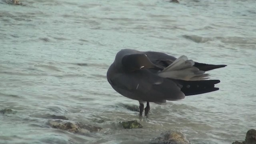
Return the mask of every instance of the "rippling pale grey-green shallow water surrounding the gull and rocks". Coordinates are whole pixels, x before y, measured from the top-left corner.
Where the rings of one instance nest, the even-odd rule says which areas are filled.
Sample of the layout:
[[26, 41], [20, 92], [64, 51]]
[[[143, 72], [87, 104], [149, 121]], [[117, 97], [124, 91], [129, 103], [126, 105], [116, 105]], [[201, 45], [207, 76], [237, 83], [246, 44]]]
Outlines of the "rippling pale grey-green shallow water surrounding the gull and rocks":
[[[256, 3], [254, 0], [0, 1], [1, 144], [146, 143], [180, 130], [194, 144], [231, 144], [256, 128]], [[122, 48], [161, 51], [208, 64], [220, 90], [166, 105], [150, 117], [124, 104], [106, 80]], [[49, 128], [46, 114], [101, 126], [79, 135]], [[104, 122], [102, 123], [102, 120]], [[138, 120], [142, 129], [115, 122]]]

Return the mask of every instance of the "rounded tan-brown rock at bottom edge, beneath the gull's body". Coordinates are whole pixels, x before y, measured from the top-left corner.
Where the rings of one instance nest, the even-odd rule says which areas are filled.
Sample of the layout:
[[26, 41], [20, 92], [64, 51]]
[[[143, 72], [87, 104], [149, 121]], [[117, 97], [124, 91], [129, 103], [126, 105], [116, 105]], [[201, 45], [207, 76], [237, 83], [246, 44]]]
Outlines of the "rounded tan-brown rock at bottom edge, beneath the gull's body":
[[182, 132], [169, 130], [154, 138], [151, 144], [190, 144], [190, 140]]

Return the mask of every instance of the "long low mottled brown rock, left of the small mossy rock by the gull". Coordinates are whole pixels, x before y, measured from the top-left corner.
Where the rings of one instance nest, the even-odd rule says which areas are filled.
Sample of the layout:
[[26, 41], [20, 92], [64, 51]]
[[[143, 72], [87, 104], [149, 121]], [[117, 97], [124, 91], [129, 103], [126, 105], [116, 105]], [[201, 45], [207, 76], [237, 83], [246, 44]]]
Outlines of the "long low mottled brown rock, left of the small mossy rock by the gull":
[[101, 127], [91, 126], [83, 124], [81, 122], [73, 122], [68, 120], [49, 120], [48, 123], [52, 128], [67, 130], [73, 133], [98, 132], [102, 130]]

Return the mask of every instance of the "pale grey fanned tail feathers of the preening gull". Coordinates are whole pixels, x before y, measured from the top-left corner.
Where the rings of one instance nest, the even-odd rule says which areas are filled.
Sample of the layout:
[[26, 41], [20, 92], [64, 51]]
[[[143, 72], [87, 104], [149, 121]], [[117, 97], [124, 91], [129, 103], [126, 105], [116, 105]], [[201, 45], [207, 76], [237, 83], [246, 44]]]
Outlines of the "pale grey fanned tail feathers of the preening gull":
[[186, 56], [180, 56], [172, 64], [158, 73], [163, 78], [173, 78], [178, 80], [206, 80], [209, 74], [199, 70], [194, 66], [193, 60], [188, 60]]

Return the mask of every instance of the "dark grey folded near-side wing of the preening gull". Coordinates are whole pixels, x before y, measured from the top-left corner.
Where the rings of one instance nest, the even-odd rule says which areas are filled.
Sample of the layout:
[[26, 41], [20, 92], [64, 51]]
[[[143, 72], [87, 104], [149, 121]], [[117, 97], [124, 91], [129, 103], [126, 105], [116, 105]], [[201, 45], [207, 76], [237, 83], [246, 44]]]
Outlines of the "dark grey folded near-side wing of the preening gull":
[[185, 97], [181, 92], [181, 85], [171, 79], [157, 76], [147, 69], [119, 73], [110, 80], [120, 94], [131, 94], [143, 101], [164, 103], [166, 100], [179, 100]]

